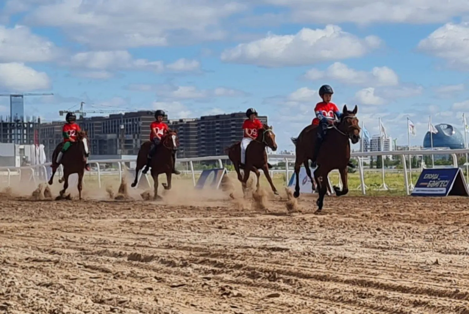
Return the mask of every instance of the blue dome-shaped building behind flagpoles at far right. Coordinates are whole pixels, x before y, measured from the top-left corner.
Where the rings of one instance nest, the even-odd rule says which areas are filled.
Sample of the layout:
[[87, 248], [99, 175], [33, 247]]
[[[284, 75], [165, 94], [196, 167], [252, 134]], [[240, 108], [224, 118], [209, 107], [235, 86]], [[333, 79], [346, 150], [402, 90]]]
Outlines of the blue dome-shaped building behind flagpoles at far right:
[[[435, 125], [435, 129], [438, 130], [438, 133], [433, 134], [433, 148], [464, 148], [464, 135], [462, 135], [461, 131], [456, 129], [453, 125], [447, 123], [440, 123]], [[424, 148], [431, 148], [430, 131], [425, 134]]]

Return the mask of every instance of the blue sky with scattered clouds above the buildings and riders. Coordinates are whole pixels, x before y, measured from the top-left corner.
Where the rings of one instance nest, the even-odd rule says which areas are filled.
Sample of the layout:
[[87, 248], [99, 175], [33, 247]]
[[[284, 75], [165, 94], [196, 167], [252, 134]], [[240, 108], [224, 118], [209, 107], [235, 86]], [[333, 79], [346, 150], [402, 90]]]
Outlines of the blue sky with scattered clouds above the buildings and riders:
[[[164, 109], [170, 119], [267, 115], [280, 150], [318, 89], [378, 134], [422, 145], [469, 113], [467, 0], [0, 0], [0, 92], [26, 115]], [[8, 115], [8, 97], [0, 115]], [[91, 116], [91, 114], [88, 114]], [[358, 149], [358, 145], [352, 146]]]

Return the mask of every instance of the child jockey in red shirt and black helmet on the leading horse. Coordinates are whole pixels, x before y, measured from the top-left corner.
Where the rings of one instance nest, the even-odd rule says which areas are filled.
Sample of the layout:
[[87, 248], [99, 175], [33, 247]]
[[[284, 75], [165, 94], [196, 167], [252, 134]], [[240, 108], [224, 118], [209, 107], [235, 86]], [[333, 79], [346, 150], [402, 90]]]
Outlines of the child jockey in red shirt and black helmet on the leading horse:
[[316, 118], [313, 119], [312, 124], [319, 125], [320, 130], [318, 130], [318, 138], [316, 139], [316, 145], [314, 146], [313, 158], [311, 160], [311, 167], [316, 167], [316, 159], [318, 158], [319, 148], [321, 147], [322, 142], [324, 141], [327, 127], [332, 125], [335, 120], [335, 116], [338, 119], [342, 116], [339, 108], [331, 102], [332, 94], [334, 91], [329, 85], [322, 85], [319, 88], [319, 96], [323, 101], [318, 102], [314, 108], [314, 113]]

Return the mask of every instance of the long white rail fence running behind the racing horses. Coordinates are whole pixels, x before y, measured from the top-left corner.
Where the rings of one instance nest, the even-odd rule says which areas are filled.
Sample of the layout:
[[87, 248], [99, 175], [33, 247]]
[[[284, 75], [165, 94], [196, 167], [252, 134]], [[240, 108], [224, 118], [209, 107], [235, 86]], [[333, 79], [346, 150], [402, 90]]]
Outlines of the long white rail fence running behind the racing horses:
[[[453, 159], [453, 166], [458, 167], [458, 161], [457, 161], [457, 154], [466, 154], [469, 153], [469, 149], [453, 149], [453, 150], [421, 150], [421, 151], [388, 151], [388, 152], [366, 152], [366, 153], [352, 153], [352, 158], [356, 158], [358, 160], [358, 174], [360, 176], [360, 186], [358, 187], [361, 189], [362, 194], [366, 194], [366, 189], [368, 188], [365, 184], [365, 179], [364, 179], [364, 169], [363, 169], [363, 157], [370, 157], [370, 156], [401, 156], [401, 162], [402, 162], [402, 167], [403, 169], [401, 170], [403, 172], [403, 180], [404, 180], [404, 186], [405, 186], [405, 191], [407, 195], [410, 194], [411, 190], [411, 185], [409, 185], [408, 182], [408, 167], [407, 167], [407, 158], [408, 155], [411, 154], [413, 156], [415, 155], [450, 155]], [[199, 174], [202, 172], [202, 170], [195, 170], [194, 169], [194, 162], [198, 161], [218, 161], [218, 165], [220, 168], [224, 167], [223, 161], [227, 161], [228, 156], [206, 156], [206, 157], [196, 157], [196, 158], [179, 158], [177, 160], [178, 163], [187, 163], [189, 170], [182, 171], [183, 173], [189, 173], [192, 176], [192, 181], [194, 186], [196, 185], [196, 174]], [[292, 163], [295, 162], [295, 155], [281, 155], [281, 154], [272, 154], [269, 155], [269, 160], [280, 160], [285, 162], [285, 169], [284, 170], [271, 170], [271, 175], [273, 173], [284, 173], [285, 174], [285, 179], [286, 179], [286, 184], [290, 180], [290, 175], [293, 173], [293, 165]], [[98, 176], [98, 186], [101, 188], [101, 176], [102, 175], [118, 175], [119, 180], [122, 179], [122, 175], [124, 173], [123, 169], [123, 164], [124, 163], [135, 163], [135, 159], [111, 159], [111, 160], [90, 160], [89, 163], [91, 165], [96, 166], [95, 171], [91, 171], [90, 175], [97, 175]], [[101, 168], [103, 164], [117, 164], [117, 171], [106, 171]], [[8, 186], [11, 184], [11, 179], [14, 176], [20, 176], [22, 177], [22, 174], [25, 172], [27, 173], [27, 176], [29, 176], [29, 179], [33, 181], [34, 183], [37, 183], [38, 180], [44, 180], [45, 177], [48, 174], [48, 168], [50, 167], [50, 163], [45, 163], [45, 164], [40, 164], [40, 165], [33, 165], [33, 166], [24, 166], [24, 167], [0, 167], [0, 176], [5, 178], [6, 176], [6, 183]], [[393, 172], [395, 172], [395, 169], [392, 169]], [[397, 172], [401, 172], [397, 171]], [[61, 176], [62, 172], [58, 171], [56, 175]], [[141, 173], [140, 173], [141, 176]], [[146, 176], [148, 180], [148, 176]], [[140, 179], [140, 178], [139, 178]], [[148, 181], [149, 182], [149, 181]], [[149, 182], [150, 183], [150, 182]], [[341, 185], [339, 183], [339, 185]], [[383, 177], [382, 177], [382, 184], [381, 187], [383, 187], [382, 190], [388, 190], [386, 182], [385, 182], [385, 176], [383, 172]]]

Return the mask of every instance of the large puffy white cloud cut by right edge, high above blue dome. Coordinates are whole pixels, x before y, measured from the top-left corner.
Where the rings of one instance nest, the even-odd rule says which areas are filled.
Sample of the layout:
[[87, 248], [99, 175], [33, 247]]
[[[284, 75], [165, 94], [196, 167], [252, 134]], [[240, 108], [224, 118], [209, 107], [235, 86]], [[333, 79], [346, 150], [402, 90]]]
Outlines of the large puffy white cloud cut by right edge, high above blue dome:
[[422, 39], [418, 48], [445, 59], [452, 67], [469, 69], [469, 23], [446, 23]]

